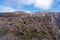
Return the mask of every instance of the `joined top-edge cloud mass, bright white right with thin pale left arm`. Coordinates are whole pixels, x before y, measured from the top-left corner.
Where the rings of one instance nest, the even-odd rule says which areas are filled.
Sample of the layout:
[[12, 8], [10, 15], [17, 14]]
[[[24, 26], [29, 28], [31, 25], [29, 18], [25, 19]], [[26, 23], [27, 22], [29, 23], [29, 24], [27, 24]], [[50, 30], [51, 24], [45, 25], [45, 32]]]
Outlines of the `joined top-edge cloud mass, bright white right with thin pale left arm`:
[[50, 9], [53, 4], [53, 0], [18, 0], [16, 2], [22, 5], [33, 4], [35, 8], [39, 9]]

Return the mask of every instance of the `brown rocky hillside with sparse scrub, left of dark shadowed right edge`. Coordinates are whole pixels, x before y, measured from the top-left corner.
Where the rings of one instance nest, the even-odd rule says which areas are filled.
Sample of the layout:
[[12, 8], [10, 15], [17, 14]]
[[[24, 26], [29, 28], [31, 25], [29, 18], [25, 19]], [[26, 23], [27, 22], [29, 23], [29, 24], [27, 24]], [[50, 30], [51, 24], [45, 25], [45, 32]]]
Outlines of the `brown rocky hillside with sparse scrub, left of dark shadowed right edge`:
[[55, 13], [0, 13], [0, 40], [60, 40]]

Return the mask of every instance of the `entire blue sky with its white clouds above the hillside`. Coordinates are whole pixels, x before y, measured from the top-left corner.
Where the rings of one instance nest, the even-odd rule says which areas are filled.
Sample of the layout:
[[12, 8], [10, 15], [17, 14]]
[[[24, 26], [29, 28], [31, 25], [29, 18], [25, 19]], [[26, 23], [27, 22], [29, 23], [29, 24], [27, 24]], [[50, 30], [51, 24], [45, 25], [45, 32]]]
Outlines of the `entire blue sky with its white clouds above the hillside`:
[[0, 0], [0, 12], [60, 12], [60, 0]]

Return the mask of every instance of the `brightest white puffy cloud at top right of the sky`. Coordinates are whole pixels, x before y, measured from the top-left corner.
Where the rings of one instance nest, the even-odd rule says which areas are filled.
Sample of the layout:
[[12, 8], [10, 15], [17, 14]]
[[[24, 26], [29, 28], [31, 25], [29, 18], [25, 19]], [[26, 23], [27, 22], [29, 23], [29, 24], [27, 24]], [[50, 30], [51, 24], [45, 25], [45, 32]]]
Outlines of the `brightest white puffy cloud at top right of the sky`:
[[53, 0], [35, 0], [34, 6], [40, 9], [50, 9], [52, 7]]

